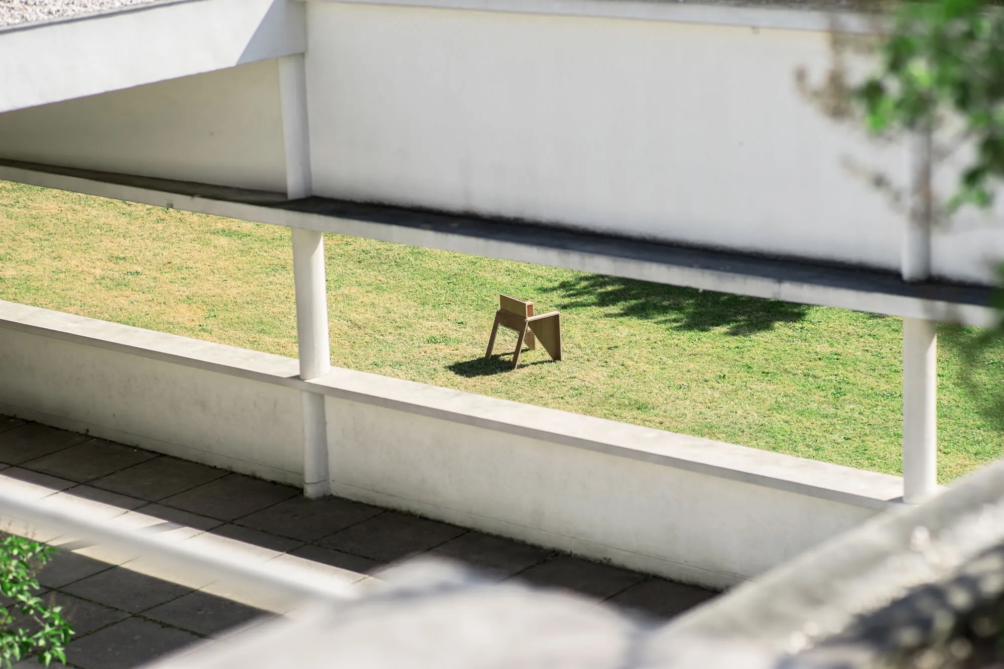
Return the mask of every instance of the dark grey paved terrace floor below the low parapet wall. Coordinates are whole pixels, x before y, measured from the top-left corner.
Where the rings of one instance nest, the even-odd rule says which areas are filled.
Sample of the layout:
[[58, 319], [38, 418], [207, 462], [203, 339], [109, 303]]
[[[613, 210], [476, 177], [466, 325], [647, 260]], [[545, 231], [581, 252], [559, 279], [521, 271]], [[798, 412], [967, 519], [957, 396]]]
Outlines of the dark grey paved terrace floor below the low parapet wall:
[[[417, 554], [443, 555], [495, 579], [572, 590], [654, 621], [715, 596], [348, 499], [308, 500], [291, 486], [4, 416], [0, 473], [357, 573]], [[269, 615], [66, 550], [42, 570], [39, 583], [76, 631], [67, 660], [80, 669], [140, 666]]]

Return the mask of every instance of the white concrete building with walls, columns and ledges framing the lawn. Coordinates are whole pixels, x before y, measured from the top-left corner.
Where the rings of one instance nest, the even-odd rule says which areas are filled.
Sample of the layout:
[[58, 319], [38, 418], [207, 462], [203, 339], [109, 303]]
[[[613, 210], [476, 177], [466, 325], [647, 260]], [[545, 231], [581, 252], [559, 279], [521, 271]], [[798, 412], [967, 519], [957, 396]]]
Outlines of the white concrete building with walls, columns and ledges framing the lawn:
[[[826, 14], [109, 4], [0, 28], [0, 179], [290, 227], [299, 361], [5, 302], [3, 413], [717, 587], [935, 492], [934, 322], [993, 321], [1004, 230], [902, 278], [841, 159], [909, 150], [793, 83]], [[903, 316], [905, 479], [331, 370], [323, 232]]]

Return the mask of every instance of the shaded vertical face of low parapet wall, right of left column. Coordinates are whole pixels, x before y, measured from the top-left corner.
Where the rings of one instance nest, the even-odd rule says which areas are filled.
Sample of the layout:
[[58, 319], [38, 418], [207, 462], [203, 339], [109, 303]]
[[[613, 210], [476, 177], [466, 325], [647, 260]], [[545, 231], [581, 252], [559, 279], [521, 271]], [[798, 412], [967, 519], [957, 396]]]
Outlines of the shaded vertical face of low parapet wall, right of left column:
[[692, 583], [756, 576], [875, 512], [362, 403], [327, 415], [334, 494]]

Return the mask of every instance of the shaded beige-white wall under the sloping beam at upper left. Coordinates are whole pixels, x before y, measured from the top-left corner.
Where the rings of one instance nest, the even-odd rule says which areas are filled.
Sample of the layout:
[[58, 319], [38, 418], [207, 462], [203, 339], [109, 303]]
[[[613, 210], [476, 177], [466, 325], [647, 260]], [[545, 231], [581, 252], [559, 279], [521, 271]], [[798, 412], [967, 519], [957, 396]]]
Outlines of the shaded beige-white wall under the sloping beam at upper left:
[[0, 114], [0, 156], [284, 192], [278, 63]]

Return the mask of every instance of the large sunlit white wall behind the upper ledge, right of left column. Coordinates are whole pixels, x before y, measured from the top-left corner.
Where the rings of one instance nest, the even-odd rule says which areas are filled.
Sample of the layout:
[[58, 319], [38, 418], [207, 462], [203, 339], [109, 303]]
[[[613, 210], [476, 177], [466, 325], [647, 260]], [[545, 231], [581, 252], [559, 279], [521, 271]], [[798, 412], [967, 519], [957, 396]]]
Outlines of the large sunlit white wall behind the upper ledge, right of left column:
[[903, 152], [795, 89], [824, 32], [327, 2], [307, 30], [319, 195], [899, 267], [841, 158]]

